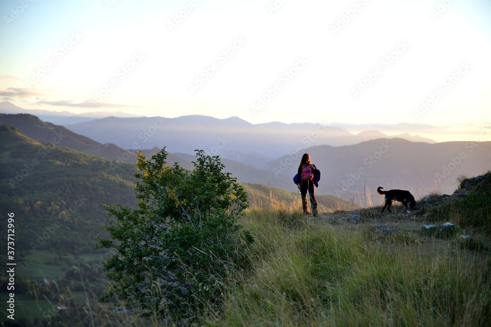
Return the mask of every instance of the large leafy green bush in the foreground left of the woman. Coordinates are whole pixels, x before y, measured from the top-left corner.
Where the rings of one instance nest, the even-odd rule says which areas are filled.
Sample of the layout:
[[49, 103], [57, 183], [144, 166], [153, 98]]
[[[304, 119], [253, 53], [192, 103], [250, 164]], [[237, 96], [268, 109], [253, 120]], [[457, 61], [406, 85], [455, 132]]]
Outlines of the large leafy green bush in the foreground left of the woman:
[[217, 156], [196, 151], [191, 172], [167, 166], [166, 156], [163, 149], [147, 161], [138, 153], [138, 209], [106, 207], [116, 222], [97, 247], [115, 250], [104, 265], [113, 284], [102, 300], [117, 296], [143, 317], [178, 324], [219, 302], [247, 195]]

